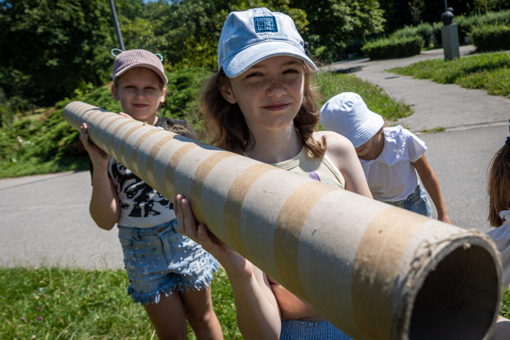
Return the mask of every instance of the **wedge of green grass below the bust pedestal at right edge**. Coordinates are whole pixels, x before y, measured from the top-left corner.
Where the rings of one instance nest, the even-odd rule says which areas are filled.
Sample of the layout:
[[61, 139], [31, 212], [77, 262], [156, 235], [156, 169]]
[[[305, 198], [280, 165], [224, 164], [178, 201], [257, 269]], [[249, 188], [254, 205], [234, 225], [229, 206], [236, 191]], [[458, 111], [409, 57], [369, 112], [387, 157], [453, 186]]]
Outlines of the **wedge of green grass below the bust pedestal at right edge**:
[[484, 53], [452, 61], [425, 60], [389, 72], [429, 79], [440, 84], [457, 84], [469, 89], [485, 89], [489, 94], [510, 97], [510, 54]]

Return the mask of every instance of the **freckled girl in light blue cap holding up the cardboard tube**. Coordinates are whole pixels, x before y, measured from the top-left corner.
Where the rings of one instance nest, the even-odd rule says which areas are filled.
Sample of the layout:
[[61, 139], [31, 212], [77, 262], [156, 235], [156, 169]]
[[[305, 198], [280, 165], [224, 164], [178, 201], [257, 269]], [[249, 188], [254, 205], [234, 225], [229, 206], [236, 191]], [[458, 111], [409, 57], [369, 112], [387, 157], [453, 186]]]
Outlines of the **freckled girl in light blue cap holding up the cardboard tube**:
[[[213, 143], [331, 186], [371, 197], [354, 148], [317, 132], [315, 64], [293, 20], [266, 8], [232, 12], [218, 43], [218, 73], [200, 96]], [[190, 202], [174, 198], [179, 231], [215, 256], [230, 279], [247, 339], [348, 339], [312, 307], [196, 226]]]

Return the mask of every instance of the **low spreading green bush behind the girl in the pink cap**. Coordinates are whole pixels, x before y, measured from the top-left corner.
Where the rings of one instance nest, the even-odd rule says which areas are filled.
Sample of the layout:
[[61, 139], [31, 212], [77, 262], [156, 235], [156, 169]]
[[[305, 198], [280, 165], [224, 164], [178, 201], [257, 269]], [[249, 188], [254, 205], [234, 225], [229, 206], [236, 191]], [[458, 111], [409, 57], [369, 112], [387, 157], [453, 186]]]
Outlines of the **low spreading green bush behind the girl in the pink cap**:
[[[159, 113], [166, 117], [192, 121], [199, 136], [203, 135], [197, 119], [189, 115], [196, 107], [201, 82], [210, 72], [201, 68], [168, 73], [165, 104]], [[74, 96], [55, 104], [40, 119], [23, 119], [0, 128], [0, 178], [84, 169], [88, 157], [78, 136], [62, 114], [67, 103], [80, 100], [111, 112], [120, 112], [110, 85], [93, 90], [75, 90]], [[196, 115], [194, 116], [196, 117]]]

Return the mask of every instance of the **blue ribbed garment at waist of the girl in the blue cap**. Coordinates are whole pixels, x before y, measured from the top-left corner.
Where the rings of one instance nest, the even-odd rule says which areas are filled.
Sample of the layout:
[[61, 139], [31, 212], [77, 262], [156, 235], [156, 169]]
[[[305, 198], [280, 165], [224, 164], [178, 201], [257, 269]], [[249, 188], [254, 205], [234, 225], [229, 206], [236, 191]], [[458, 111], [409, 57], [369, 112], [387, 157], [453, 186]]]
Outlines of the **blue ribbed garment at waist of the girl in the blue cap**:
[[280, 340], [351, 340], [329, 321], [282, 320]]

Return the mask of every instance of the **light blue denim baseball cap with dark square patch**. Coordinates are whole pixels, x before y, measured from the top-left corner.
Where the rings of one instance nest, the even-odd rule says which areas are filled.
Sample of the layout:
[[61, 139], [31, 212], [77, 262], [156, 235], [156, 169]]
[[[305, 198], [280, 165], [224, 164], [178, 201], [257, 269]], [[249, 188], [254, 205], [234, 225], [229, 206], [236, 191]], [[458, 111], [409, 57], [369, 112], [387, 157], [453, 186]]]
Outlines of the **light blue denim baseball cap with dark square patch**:
[[233, 78], [275, 56], [296, 57], [317, 70], [290, 16], [267, 8], [228, 14], [218, 41], [218, 70]]

